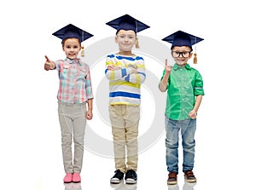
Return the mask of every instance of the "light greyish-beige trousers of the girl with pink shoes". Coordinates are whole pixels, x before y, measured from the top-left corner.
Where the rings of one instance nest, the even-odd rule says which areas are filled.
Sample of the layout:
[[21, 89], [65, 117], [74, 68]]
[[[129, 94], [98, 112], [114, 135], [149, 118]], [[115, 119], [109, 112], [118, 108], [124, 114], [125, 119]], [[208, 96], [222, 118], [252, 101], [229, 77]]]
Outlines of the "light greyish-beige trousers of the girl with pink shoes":
[[[86, 125], [86, 103], [67, 104], [58, 102], [61, 125], [61, 147], [66, 173], [82, 170], [84, 155], [84, 130]], [[72, 148], [72, 143], [74, 144]], [[72, 149], [74, 153], [72, 153]]]

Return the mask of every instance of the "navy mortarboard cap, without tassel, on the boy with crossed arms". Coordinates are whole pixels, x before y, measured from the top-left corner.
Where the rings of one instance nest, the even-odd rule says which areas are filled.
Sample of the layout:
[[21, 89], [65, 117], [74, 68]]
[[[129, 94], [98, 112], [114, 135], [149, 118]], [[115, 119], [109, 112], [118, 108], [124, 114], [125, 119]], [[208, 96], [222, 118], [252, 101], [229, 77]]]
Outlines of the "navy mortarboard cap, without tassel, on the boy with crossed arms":
[[116, 33], [118, 33], [121, 29], [125, 31], [132, 30], [137, 33], [150, 27], [148, 25], [145, 25], [143, 22], [131, 17], [129, 14], [125, 14], [117, 19], [109, 21], [108, 23], [106, 23], [106, 25], [112, 26], [114, 29], [116, 29]]

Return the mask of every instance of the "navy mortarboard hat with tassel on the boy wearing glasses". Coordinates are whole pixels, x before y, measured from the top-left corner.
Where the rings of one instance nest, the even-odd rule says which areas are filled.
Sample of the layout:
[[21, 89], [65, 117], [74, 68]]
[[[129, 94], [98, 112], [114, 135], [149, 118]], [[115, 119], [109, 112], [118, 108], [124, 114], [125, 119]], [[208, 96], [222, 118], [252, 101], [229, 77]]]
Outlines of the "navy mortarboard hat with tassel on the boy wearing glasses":
[[[189, 48], [192, 49], [192, 45], [194, 45], [195, 43], [199, 43], [204, 39], [201, 37], [195, 37], [194, 35], [186, 32], [177, 31], [172, 33], [170, 36], [163, 38], [162, 40], [168, 43], [172, 43], [171, 49], [174, 46], [189, 46]], [[194, 53], [194, 55], [194, 63], [197, 63], [196, 52]]]

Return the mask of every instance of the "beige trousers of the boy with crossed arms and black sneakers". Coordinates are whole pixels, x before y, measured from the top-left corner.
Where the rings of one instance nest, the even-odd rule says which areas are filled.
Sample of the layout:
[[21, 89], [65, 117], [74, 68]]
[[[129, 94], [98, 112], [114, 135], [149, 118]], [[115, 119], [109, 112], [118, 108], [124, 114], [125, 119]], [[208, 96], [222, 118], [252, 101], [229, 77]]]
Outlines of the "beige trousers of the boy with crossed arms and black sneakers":
[[126, 170], [137, 171], [137, 136], [140, 107], [109, 106], [109, 116], [112, 124], [116, 170], [121, 170], [124, 173]]

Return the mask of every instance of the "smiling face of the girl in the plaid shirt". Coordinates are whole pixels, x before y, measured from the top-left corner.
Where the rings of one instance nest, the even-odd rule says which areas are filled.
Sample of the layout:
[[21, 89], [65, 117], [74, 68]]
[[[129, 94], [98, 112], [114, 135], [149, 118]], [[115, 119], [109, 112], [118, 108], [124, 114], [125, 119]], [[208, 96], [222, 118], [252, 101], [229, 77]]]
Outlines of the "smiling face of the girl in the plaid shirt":
[[62, 47], [63, 51], [65, 52], [65, 54], [67, 55], [67, 58], [73, 60], [76, 59], [79, 51], [81, 49], [81, 45], [79, 43], [79, 39], [78, 38], [67, 38], [64, 41], [63, 47]]

